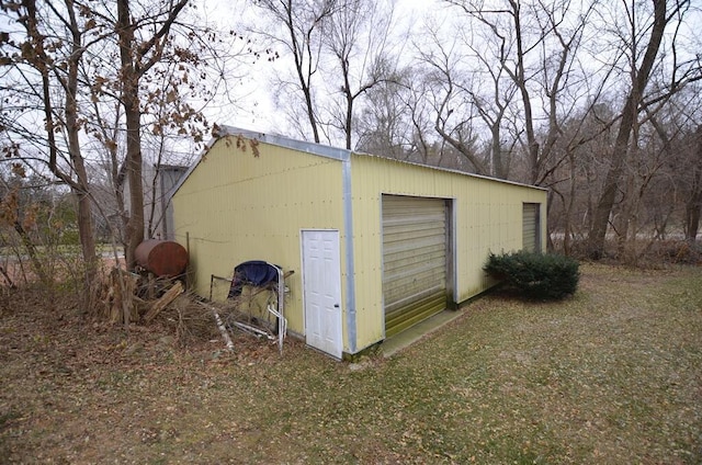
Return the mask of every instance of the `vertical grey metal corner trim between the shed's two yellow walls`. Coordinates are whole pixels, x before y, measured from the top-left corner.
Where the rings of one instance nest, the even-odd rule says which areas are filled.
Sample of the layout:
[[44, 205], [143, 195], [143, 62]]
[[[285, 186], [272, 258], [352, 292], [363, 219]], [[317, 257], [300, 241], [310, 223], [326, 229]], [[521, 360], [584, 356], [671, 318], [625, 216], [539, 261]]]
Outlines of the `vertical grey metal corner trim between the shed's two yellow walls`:
[[351, 197], [351, 152], [347, 152], [341, 168], [343, 189], [343, 229], [346, 234], [347, 259], [347, 341], [349, 353], [355, 353], [356, 321], [355, 321], [355, 263], [353, 260], [353, 199]]

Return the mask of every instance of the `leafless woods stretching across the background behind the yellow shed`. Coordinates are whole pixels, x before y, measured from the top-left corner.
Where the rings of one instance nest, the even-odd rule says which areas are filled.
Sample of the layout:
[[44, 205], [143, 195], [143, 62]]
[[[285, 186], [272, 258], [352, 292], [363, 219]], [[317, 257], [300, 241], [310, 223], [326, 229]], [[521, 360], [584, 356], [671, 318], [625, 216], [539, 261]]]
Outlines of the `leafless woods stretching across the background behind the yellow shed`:
[[39, 257], [39, 229], [72, 224], [89, 296], [98, 238], [135, 266], [145, 162], [192, 154], [207, 104], [274, 70], [293, 136], [548, 188], [553, 250], [699, 248], [699, 2], [393, 4], [241, 0], [224, 30], [191, 0], [0, 1], [0, 239]]

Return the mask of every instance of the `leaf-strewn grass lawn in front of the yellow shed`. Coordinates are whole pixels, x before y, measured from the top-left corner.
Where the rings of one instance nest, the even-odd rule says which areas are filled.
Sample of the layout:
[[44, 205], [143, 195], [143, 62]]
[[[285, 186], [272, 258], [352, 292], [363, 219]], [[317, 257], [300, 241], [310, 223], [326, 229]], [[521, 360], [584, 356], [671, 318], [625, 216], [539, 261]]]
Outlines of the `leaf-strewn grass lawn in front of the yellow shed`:
[[702, 463], [702, 269], [581, 271], [355, 364], [3, 295], [0, 463]]

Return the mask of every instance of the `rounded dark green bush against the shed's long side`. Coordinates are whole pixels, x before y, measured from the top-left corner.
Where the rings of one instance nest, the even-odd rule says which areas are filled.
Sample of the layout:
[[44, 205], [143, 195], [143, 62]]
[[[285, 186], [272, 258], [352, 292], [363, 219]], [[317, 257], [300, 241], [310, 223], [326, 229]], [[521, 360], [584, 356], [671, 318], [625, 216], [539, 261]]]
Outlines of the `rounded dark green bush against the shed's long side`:
[[569, 257], [519, 251], [490, 253], [483, 270], [529, 298], [555, 300], [575, 293], [578, 266]]

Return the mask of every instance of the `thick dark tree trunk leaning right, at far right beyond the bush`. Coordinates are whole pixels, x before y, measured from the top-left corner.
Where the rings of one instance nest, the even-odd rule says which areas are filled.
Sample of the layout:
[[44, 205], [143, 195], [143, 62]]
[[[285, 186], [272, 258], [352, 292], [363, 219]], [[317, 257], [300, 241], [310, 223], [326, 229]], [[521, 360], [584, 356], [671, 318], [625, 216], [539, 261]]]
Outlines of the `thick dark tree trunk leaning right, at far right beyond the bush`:
[[[612, 149], [612, 163], [604, 180], [602, 194], [600, 195], [592, 218], [592, 227], [588, 236], [588, 256], [593, 260], [599, 260], [604, 256], [604, 242], [610, 215], [620, 191], [620, 183], [626, 156], [631, 134], [638, 117], [638, 104], [641, 103], [644, 90], [648, 83], [650, 70], [658, 55], [658, 48], [666, 29], [666, 0], [653, 0], [654, 3], [654, 25], [646, 46], [646, 53], [638, 70], [635, 70], [632, 89], [626, 97], [624, 109], [621, 114], [621, 123], [616, 134], [616, 140]], [[635, 45], [632, 44], [634, 47]]]

